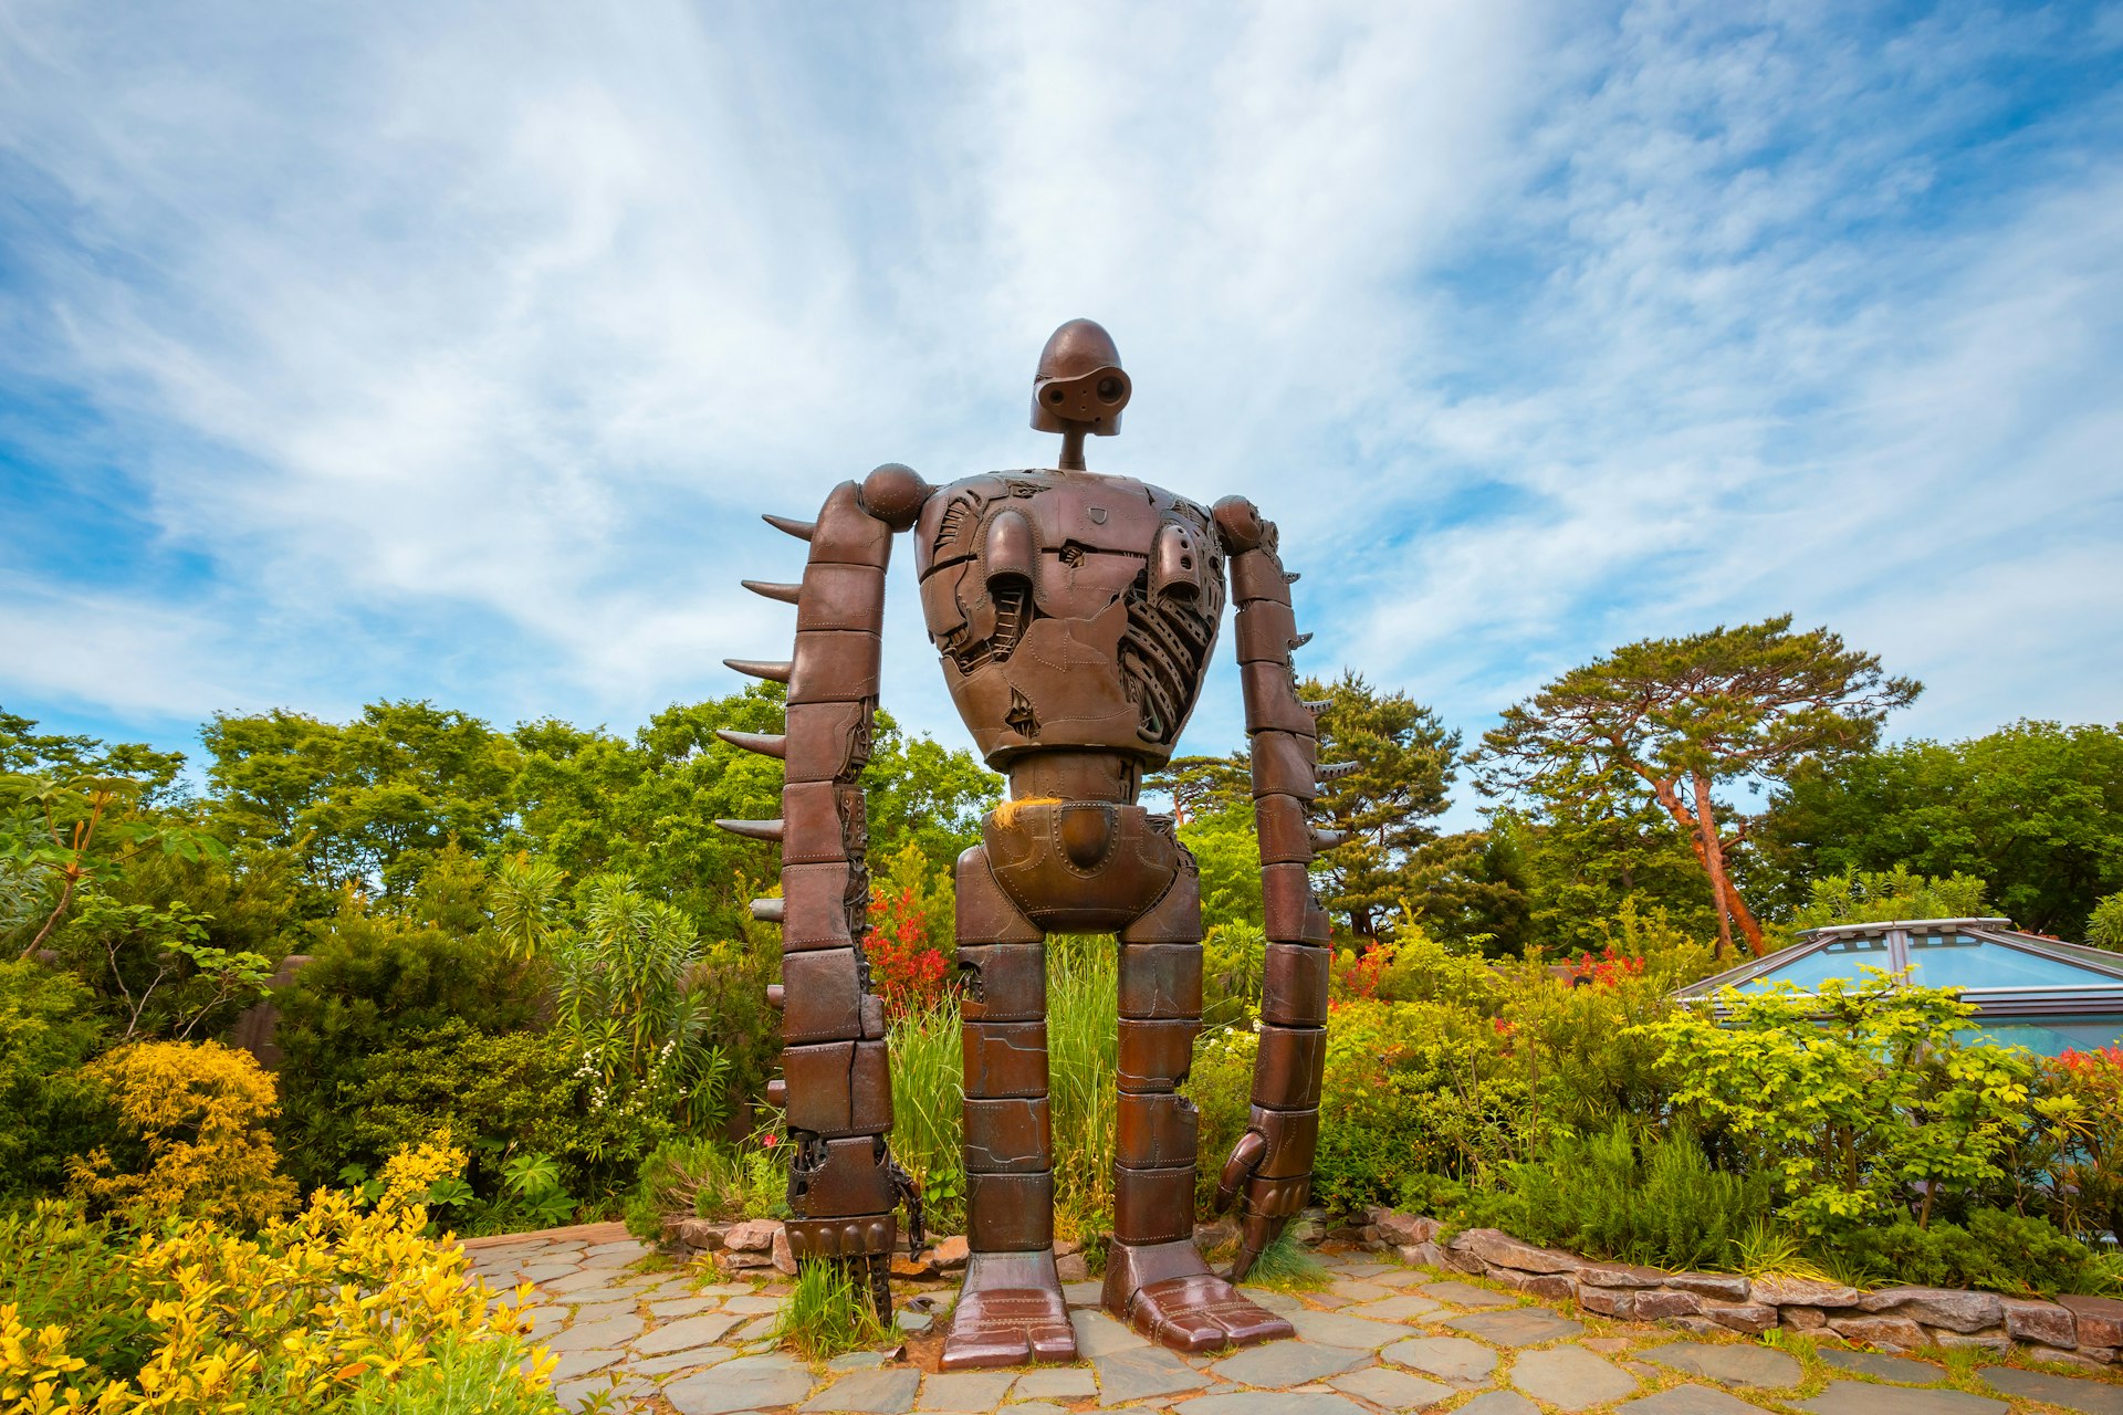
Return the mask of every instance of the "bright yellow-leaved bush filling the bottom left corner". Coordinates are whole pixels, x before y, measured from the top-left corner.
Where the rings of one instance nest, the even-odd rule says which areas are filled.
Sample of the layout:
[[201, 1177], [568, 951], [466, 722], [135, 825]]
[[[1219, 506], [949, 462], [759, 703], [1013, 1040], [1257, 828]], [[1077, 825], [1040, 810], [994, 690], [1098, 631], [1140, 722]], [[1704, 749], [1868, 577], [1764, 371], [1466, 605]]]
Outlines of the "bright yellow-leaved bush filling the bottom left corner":
[[[395, 1156], [403, 1184], [363, 1209], [342, 1190], [318, 1190], [301, 1213], [240, 1237], [210, 1222], [180, 1222], [142, 1237], [125, 1258], [155, 1347], [138, 1375], [83, 1390], [83, 1362], [66, 1328], [32, 1330], [0, 1307], [0, 1411], [6, 1415], [242, 1415], [342, 1411], [378, 1383], [471, 1356], [499, 1383], [497, 1411], [550, 1411], [554, 1358], [531, 1349], [529, 1288], [497, 1296], [465, 1279], [454, 1243], [425, 1237], [427, 1209], [403, 1192], [463, 1154], [420, 1146]], [[386, 1171], [389, 1173], [389, 1171]], [[414, 1182], [418, 1180], [418, 1186]], [[505, 1343], [497, 1351], [493, 1343]]]

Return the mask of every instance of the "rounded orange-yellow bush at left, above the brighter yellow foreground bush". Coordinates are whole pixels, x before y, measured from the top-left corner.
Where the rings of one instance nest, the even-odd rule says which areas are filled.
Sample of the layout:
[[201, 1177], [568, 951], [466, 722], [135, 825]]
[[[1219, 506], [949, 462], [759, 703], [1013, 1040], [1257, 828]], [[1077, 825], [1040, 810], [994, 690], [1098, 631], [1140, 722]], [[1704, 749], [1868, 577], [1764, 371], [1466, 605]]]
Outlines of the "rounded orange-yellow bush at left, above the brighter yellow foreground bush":
[[72, 1160], [74, 1194], [157, 1218], [257, 1226], [295, 1203], [265, 1129], [278, 1112], [274, 1080], [246, 1050], [219, 1042], [138, 1042], [85, 1067], [110, 1093], [138, 1163], [106, 1146]]

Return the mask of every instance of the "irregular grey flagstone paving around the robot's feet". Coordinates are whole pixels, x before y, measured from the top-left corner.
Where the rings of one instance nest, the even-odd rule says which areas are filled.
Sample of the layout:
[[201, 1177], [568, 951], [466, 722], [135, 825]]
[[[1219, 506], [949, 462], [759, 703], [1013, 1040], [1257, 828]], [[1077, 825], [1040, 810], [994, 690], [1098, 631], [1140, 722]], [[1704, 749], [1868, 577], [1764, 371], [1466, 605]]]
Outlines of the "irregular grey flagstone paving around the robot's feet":
[[[1947, 1366], [1798, 1341], [1681, 1339], [1664, 1326], [1560, 1313], [1546, 1303], [1323, 1254], [1318, 1292], [1246, 1292], [1291, 1317], [1295, 1341], [1174, 1356], [1068, 1283], [1083, 1360], [996, 1373], [924, 1370], [909, 1351], [856, 1351], [822, 1366], [775, 1347], [788, 1279], [679, 1269], [620, 1224], [471, 1239], [471, 1269], [497, 1288], [537, 1286], [533, 1339], [558, 1358], [554, 1390], [580, 1409], [611, 1392], [641, 1415], [2123, 1415], [2123, 1370]], [[926, 1332], [955, 1277], [894, 1283], [900, 1324]], [[934, 1364], [934, 1339], [913, 1356]], [[1983, 1360], [1996, 1360], [1989, 1351]]]

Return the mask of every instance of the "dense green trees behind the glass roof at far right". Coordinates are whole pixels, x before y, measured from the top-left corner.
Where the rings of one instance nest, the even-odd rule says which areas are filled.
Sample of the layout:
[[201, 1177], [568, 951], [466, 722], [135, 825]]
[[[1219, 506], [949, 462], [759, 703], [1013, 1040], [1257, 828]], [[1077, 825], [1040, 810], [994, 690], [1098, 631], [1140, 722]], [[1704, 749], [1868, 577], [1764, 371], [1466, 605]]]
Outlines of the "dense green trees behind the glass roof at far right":
[[1756, 853], [1790, 906], [1809, 878], [1909, 866], [1989, 880], [2000, 914], [2083, 938], [2123, 889], [2123, 723], [2017, 721], [1807, 764], [1771, 798]]

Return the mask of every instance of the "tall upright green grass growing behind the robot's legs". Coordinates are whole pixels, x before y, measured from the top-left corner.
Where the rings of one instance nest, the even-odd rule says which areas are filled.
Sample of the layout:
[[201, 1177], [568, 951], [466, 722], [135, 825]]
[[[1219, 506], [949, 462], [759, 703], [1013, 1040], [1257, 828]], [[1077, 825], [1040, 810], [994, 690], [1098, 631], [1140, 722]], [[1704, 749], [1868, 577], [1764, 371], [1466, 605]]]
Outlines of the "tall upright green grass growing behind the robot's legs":
[[[1110, 938], [1047, 940], [1047, 1076], [1055, 1135], [1055, 1230], [1085, 1237], [1112, 1209], [1119, 957]], [[964, 1233], [964, 1061], [957, 999], [892, 1023], [892, 1154], [919, 1182], [930, 1226]]]

